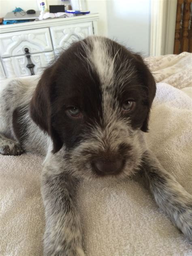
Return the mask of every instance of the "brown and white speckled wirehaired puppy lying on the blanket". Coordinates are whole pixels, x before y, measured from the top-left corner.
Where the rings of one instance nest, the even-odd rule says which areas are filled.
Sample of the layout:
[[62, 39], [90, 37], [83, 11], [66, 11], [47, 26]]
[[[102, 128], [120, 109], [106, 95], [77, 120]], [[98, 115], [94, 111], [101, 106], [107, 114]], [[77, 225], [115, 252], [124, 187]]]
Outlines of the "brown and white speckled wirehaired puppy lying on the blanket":
[[156, 84], [140, 55], [108, 38], [73, 43], [38, 84], [12, 81], [0, 95], [0, 153], [46, 155], [44, 254], [84, 255], [75, 207], [80, 179], [139, 173], [157, 205], [192, 237], [192, 196], [144, 141]]

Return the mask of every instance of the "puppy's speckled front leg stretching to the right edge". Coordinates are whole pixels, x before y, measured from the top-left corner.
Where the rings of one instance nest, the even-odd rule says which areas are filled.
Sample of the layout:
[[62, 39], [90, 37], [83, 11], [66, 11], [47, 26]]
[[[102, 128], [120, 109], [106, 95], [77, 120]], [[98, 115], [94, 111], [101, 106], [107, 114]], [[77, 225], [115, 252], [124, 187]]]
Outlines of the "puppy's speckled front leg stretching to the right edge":
[[143, 174], [158, 206], [192, 239], [192, 196], [163, 169], [151, 151], [143, 156]]

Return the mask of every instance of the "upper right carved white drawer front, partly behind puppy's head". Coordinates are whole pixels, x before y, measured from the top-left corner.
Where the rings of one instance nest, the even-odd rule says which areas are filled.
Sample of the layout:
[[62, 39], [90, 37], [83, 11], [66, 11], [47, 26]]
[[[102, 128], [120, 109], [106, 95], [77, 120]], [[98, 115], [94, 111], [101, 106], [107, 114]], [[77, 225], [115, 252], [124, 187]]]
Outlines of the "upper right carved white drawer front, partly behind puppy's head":
[[50, 31], [55, 52], [61, 47], [68, 48], [74, 41], [94, 34], [92, 22], [50, 27]]

